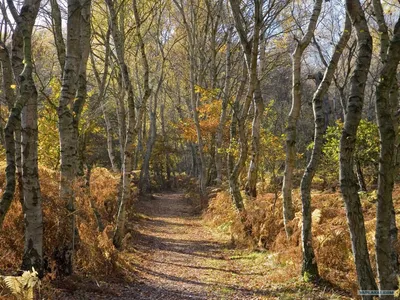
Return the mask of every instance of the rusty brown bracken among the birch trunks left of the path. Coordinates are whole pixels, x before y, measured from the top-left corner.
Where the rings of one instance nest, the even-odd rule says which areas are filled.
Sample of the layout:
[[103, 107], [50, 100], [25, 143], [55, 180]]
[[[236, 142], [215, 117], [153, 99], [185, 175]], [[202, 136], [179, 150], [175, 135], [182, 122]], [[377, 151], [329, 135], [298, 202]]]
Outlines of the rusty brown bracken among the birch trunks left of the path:
[[[0, 172], [0, 186], [5, 185], [4, 172]], [[44, 283], [56, 278], [55, 249], [63, 244], [67, 221], [65, 204], [59, 198], [59, 173], [40, 167], [39, 169], [44, 228]], [[112, 243], [114, 218], [117, 212], [119, 176], [104, 168], [95, 168], [91, 175], [90, 190], [83, 179], [75, 184], [76, 224], [79, 242], [74, 268], [78, 276], [94, 280], [120, 275], [123, 264]], [[23, 255], [24, 222], [18, 191], [0, 231], [0, 270], [7, 275], [17, 274]], [[97, 210], [104, 230], [99, 231]], [[120, 261], [121, 260], [121, 261]], [[0, 287], [1, 292], [1, 287]], [[1, 293], [0, 293], [1, 295]]]

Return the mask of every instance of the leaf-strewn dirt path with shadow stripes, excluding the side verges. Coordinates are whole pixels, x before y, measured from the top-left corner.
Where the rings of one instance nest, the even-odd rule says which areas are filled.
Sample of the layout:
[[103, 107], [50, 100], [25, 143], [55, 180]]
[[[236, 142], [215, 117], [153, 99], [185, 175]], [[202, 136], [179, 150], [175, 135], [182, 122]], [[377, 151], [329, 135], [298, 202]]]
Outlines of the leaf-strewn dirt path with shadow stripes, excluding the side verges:
[[[262, 299], [273, 296], [249, 258], [230, 249], [227, 237], [211, 233], [180, 193], [154, 195], [137, 205], [133, 261], [142, 286], [131, 299]], [[244, 260], [244, 261], [242, 261]], [[259, 268], [260, 266], [258, 266]], [[269, 267], [264, 266], [268, 272]], [[126, 295], [128, 298], [128, 295]], [[269, 298], [269, 297], [268, 297]]]

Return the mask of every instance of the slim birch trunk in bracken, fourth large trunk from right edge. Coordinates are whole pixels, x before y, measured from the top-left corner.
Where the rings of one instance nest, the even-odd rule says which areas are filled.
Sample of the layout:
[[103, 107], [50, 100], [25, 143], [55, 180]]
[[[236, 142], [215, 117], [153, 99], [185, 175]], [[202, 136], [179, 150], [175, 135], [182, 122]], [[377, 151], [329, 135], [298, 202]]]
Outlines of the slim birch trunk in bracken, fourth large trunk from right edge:
[[292, 229], [287, 224], [294, 218], [292, 203], [292, 178], [296, 163], [296, 135], [297, 121], [301, 109], [301, 58], [304, 50], [308, 47], [314, 35], [317, 21], [322, 8], [322, 0], [314, 1], [314, 8], [310, 17], [308, 28], [303, 38], [297, 41], [297, 46], [292, 54], [293, 79], [292, 79], [292, 107], [289, 112], [288, 125], [286, 127], [286, 161], [283, 177], [282, 198], [283, 198], [283, 221], [288, 236], [292, 234]]

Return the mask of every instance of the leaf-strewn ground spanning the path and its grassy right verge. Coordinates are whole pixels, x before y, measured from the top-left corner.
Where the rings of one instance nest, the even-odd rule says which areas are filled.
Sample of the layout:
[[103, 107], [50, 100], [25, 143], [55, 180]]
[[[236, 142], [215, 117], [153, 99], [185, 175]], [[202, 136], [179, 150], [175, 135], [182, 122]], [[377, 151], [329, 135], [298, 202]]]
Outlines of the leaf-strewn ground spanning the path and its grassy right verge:
[[182, 193], [155, 194], [135, 210], [122, 254], [131, 280], [75, 284], [57, 299], [349, 299], [286, 274], [273, 253], [236, 249]]

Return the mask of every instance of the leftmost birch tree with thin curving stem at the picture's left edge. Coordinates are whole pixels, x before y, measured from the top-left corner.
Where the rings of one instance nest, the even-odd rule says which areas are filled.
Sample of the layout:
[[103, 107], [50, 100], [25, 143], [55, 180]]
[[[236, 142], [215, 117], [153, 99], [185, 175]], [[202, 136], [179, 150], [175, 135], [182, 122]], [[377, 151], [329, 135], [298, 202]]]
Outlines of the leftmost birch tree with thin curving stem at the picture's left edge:
[[[12, 79], [11, 68], [17, 82], [17, 98], [13, 103], [14, 95], [6, 89], [8, 106], [11, 108], [7, 125], [5, 127], [5, 147], [7, 153], [7, 185], [1, 201], [1, 223], [5, 213], [14, 196], [15, 189], [15, 157], [22, 153], [22, 176], [23, 183], [23, 212], [25, 224], [24, 254], [22, 258], [22, 269], [31, 270], [34, 267], [42, 275], [43, 271], [43, 221], [42, 202], [38, 174], [38, 131], [37, 131], [37, 109], [38, 93], [33, 80], [32, 63], [32, 32], [36, 17], [39, 12], [40, 0], [25, 0], [20, 12], [17, 11], [13, 1], [7, 1], [11, 15], [16, 22], [13, 34], [11, 65], [8, 51], [5, 45], [2, 47], [2, 69], [6, 75], [6, 84]], [[15, 99], [15, 98], [14, 98]], [[22, 144], [15, 143], [14, 134], [19, 140], [19, 126], [22, 124]], [[22, 146], [22, 147], [21, 147]], [[21, 147], [22, 149], [16, 148]]]

